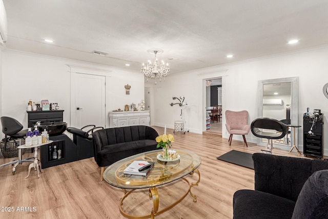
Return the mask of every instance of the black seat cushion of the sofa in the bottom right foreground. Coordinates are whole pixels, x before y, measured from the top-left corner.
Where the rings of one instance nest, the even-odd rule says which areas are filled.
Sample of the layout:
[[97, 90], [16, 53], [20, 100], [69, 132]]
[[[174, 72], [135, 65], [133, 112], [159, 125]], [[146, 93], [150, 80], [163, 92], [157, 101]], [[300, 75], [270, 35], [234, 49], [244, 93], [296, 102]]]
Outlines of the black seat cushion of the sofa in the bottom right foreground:
[[257, 190], [238, 190], [233, 197], [234, 219], [290, 219], [294, 207], [294, 201]]

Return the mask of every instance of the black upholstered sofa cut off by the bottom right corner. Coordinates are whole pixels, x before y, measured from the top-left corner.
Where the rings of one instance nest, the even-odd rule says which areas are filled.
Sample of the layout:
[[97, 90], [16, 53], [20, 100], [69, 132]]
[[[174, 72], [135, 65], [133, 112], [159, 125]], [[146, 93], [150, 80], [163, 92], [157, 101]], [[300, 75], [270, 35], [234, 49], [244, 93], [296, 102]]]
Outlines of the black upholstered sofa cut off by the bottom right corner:
[[328, 218], [328, 161], [253, 154], [255, 190], [238, 190], [234, 219]]

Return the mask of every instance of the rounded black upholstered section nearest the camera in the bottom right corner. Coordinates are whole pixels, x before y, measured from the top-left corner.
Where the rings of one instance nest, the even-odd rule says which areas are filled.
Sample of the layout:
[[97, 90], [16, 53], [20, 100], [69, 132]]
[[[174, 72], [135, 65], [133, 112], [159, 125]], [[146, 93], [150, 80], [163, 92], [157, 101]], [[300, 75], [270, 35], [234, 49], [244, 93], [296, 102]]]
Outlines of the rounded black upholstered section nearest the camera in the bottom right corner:
[[313, 173], [296, 201], [292, 218], [328, 218], [328, 170]]

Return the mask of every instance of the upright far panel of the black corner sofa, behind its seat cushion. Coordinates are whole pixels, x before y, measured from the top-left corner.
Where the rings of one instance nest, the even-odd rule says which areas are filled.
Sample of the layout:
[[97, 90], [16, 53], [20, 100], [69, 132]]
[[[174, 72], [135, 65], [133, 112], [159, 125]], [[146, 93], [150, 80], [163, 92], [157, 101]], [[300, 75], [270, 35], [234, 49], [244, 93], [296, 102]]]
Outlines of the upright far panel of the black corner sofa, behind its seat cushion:
[[305, 181], [328, 162], [307, 158], [253, 154], [255, 190], [296, 201]]

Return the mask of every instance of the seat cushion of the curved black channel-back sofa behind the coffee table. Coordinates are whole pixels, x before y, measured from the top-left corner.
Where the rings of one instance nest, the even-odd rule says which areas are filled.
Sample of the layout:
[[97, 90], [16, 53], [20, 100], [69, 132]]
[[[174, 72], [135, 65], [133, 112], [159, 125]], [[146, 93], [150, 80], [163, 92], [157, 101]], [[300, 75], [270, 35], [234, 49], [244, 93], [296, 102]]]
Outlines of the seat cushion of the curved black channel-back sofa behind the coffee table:
[[106, 145], [97, 153], [97, 164], [99, 167], [106, 167], [128, 156], [156, 150], [156, 146], [155, 140], [147, 139]]

